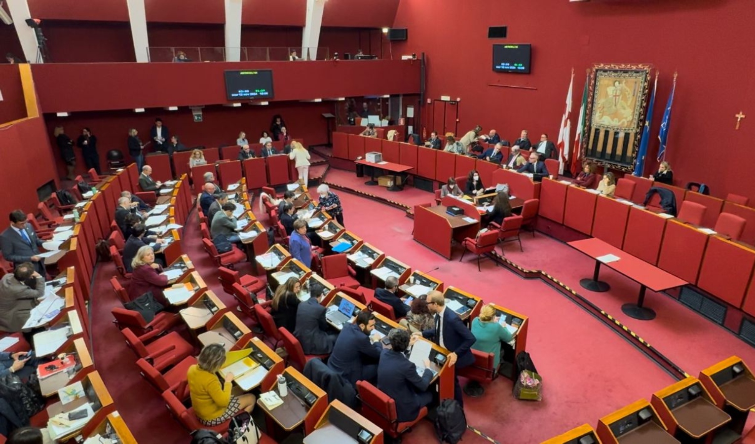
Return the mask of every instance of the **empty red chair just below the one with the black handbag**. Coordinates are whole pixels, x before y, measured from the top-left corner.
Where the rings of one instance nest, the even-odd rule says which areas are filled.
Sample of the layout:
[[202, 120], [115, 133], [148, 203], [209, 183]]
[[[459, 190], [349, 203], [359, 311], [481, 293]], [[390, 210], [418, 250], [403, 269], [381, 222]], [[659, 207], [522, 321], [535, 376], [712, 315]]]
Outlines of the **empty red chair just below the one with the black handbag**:
[[[140, 358], [146, 359], [147, 362], [151, 361], [156, 368], [176, 365], [183, 358], [194, 353], [194, 347], [175, 331], [160, 336], [160, 331], [153, 330], [146, 335], [137, 336], [134, 335], [131, 328], [124, 328], [121, 333], [123, 333], [128, 347], [134, 350]], [[145, 342], [150, 340], [152, 342]]]

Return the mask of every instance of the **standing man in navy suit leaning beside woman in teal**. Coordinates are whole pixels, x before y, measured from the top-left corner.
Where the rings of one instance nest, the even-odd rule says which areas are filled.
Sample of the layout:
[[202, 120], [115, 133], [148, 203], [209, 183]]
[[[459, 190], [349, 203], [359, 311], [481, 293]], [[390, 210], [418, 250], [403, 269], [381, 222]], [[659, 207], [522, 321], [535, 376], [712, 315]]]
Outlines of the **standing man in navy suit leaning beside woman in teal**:
[[[467, 328], [467, 325], [464, 325], [458, 314], [454, 313], [453, 310], [446, 310], [445, 298], [440, 291], [430, 291], [427, 294], [427, 308], [430, 309], [430, 313], [435, 314], [435, 328], [425, 330], [422, 333], [414, 333], [414, 335], [422, 335], [440, 347], [451, 351], [447, 356], [448, 365], [455, 365], [457, 371], [459, 368], [472, 365], [474, 356], [470, 348], [475, 343], [476, 338]], [[459, 402], [461, 407], [464, 407], [464, 397], [461, 393], [461, 385], [459, 385], [458, 372], [454, 372], [454, 375], [454, 399]]]

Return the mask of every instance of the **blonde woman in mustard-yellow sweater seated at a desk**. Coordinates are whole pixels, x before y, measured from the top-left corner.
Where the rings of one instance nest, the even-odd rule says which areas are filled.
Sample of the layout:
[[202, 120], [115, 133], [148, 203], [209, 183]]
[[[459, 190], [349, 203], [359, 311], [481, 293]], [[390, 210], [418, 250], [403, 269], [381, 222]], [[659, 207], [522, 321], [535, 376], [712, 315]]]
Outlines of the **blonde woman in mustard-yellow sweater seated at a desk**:
[[251, 393], [241, 396], [231, 394], [233, 373], [226, 373], [223, 381], [220, 381], [217, 372], [225, 361], [223, 345], [209, 344], [197, 356], [196, 364], [186, 372], [194, 414], [207, 427], [219, 426], [242, 411], [251, 413], [257, 401]]

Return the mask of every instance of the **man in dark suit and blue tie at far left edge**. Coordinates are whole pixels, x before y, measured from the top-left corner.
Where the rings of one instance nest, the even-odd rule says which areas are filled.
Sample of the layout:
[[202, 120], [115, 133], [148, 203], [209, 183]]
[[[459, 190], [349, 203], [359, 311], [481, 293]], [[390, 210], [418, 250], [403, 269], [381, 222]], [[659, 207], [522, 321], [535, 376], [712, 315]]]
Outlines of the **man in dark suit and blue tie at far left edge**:
[[46, 276], [45, 259], [39, 257], [42, 241], [39, 240], [32, 227], [26, 224], [26, 214], [23, 214], [21, 210], [14, 210], [8, 218], [11, 220], [11, 227], [8, 227], [0, 237], [3, 257], [14, 265], [31, 262], [37, 273]]

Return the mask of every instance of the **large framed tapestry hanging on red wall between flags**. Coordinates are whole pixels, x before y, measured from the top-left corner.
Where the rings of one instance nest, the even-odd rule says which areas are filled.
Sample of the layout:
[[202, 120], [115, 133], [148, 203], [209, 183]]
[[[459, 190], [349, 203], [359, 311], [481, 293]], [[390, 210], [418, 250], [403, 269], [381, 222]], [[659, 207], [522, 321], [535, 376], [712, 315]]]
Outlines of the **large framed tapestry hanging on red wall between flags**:
[[632, 171], [648, 106], [649, 64], [596, 64], [590, 72], [584, 159]]

